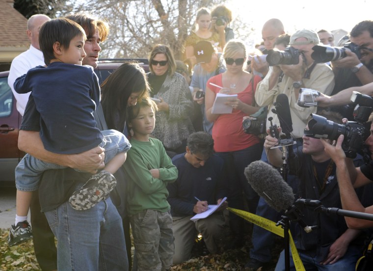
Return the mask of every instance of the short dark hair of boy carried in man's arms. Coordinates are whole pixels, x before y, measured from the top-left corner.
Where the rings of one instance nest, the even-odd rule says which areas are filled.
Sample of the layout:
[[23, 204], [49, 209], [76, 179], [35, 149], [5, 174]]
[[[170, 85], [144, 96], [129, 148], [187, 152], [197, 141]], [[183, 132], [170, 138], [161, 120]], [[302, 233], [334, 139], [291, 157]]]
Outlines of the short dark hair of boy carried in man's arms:
[[60, 46], [68, 49], [70, 41], [78, 35], [82, 35], [86, 39], [84, 29], [77, 23], [66, 19], [58, 18], [45, 22], [39, 31], [40, 50], [44, 55], [46, 65], [55, 59], [53, 44], [59, 42]]

